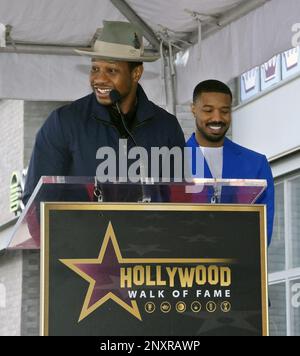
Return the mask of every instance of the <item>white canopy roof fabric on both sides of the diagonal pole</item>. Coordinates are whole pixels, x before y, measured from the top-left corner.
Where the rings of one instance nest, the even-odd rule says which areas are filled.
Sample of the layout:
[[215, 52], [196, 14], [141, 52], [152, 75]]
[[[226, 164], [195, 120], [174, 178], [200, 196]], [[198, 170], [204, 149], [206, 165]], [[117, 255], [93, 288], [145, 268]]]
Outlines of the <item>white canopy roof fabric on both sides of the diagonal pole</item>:
[[[162, 24], [177, 31], [196, 28], [189, 9], [221, 13], [249, 0], [129, 0], [128, 4], [155, 31]], [[103, 20], [125, 18], [109, 0], [0, 0], [0, 22], [14, 27], [18, 41], [88, 45]]]

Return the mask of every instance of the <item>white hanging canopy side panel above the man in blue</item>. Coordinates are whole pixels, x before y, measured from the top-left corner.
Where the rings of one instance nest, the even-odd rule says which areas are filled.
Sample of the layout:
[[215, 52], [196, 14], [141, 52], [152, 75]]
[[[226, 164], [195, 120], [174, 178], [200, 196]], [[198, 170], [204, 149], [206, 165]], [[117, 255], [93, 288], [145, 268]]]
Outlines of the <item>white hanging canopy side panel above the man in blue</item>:
[[299, 14], [299, 0], [272, 0], [204, 40], [201, 61], [193, 46], [187, 63], [177, 66], [178, 102], [191, 101], [202, 80], [227, 82], [292, 48], [292, 26], [300, 23]]

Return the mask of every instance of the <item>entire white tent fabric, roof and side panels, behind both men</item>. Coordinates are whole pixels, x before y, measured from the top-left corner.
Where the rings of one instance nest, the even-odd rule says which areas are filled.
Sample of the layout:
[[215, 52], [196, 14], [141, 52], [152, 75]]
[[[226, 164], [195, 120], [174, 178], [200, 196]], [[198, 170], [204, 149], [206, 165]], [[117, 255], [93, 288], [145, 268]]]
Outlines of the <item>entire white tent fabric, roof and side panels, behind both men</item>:
[[[159, 25], [192, 32], [197, 23], [185, 9], [221, 14], [252, 0], [128, 0], [154, 30]], [[202, 44], [190, 49], [187, 66], [178, 65], [178, 102], [190, 100], [194, 85], [208, 77], [229, 80], [275, 53], [291, 47], [291, 27], [300, 22], [299, 0], [271, 0]], [[0, 0], [0, 23], [13, 26], [16, 42], [87, 46], [102, 21], [125, 17], [109, 0]], [[145, 65], [142, 85], [164, 104], [160, 63]], [[89, 92], [89, 59], [78, 56], [0, 52], [0, 98], [74, 100]], [[159, 88], [159, 90], [158, 90]]]

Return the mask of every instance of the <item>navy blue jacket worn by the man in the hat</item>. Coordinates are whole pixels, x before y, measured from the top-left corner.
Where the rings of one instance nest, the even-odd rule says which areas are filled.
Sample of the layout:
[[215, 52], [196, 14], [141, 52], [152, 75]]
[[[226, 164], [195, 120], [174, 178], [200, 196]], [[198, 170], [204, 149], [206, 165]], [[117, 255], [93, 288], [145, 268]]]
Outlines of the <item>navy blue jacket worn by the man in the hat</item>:
[[[137, 98], [136, 122], [132, 129], [137, 145], [144, 147], [148, 154], [151, 147], [183, 149], [185, 139], [176, 117], [149, 101], [140, 85]], [[41, 176], [96, 176], [100, 163], [96, 159], [97, 150], [112, 147], [118, 159], [120, 138], [106, 107], [97, 102], [94, 94], [55, 110], [36, 136], [24, 202], [28, 201]], [[134, 143], [128, 139], [128, 149], [132, 147]]]

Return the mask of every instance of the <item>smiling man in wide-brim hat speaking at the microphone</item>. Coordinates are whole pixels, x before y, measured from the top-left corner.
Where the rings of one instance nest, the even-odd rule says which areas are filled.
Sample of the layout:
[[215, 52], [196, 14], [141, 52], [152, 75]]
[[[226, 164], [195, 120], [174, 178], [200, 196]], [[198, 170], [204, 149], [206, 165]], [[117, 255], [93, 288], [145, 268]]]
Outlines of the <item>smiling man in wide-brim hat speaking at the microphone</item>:
[[[25, 202], [41, 176], [95, 176], [101, 163], [96, 158], [98, 149], [112, 147], [118, 159], [122, 138], [128, 139], [128, 149], [136, 144], [144, 147], [148, 157], [152, 147], [185, 146], [177, 119], [149, 101], [138, 84], [143, 62], [159, 58], [145, 55], [138, 27], [128, 22], [104, 21], [93, 49], [77, 52], [92, 58], [93, 93], [55, 110], [38, 132], [28, 169]], [[126, 127], [112, 105], [113, 89], [119, 92], [119, 108]]]

